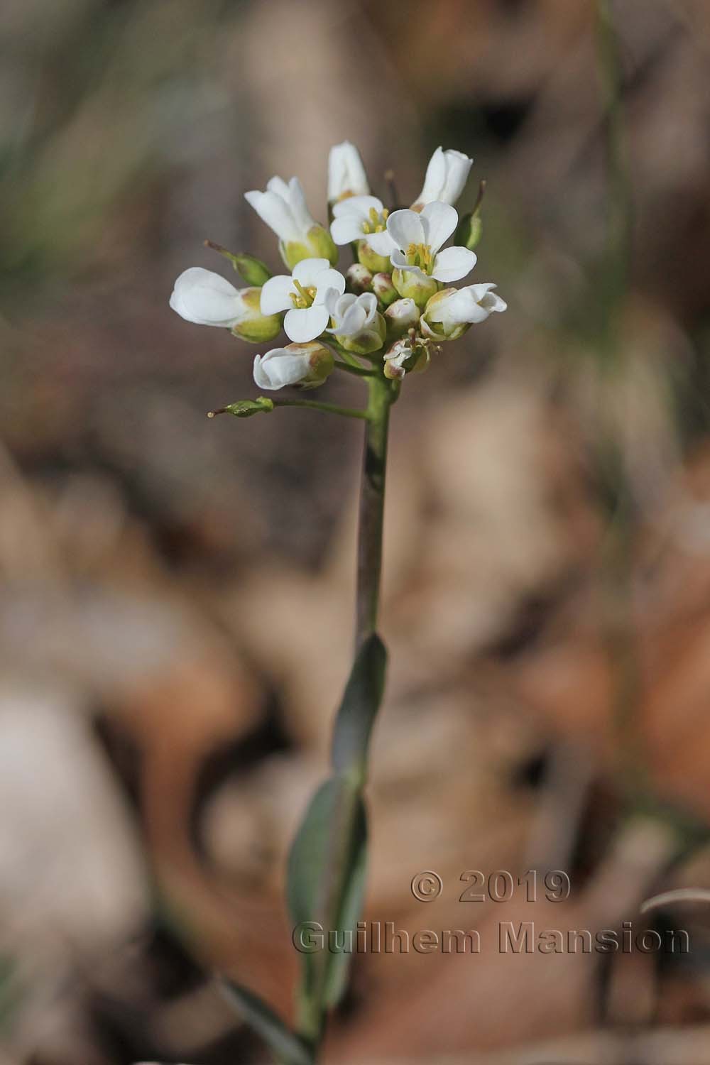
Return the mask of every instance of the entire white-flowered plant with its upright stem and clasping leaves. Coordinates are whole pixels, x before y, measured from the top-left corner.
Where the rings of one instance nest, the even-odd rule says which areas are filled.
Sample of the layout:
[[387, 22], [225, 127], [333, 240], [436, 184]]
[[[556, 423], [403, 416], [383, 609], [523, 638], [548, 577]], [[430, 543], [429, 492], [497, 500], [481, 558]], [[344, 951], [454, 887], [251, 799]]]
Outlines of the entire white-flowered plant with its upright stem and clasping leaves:
[[[260, 345], [283, 329], [290, 343], [254, 358], [260, 389], [312, 390], [335, 372], [360, 377], [367, 386], [363, 408], [258, 396], [211, 412], [250, 417], [295, 406], [365, 423], [354, 663], [335, 717], [330, 775], [306, 812], [288, 858], [286, 896], [296, 924], [317, 920], [345, 932], [354, 928], [360, 912], [368, 746], [386, 662], [377, 618], [390, 409], [408, 373], [426, 370], [446, 343], [506, 310], [491, 282], [451, 286], [476, 265], [474, 248], [481, 234], [481, 195], [461, 219], [453, 206], [472, 162], [461, 152], [437, 148], [412, 207], [385, 208], [371, 195], [357, 148], [348, 142], [336, 145], [328, 171], [329, 228], [309, 212], [297, 178], [286, 183], [275, 177], [265, 192], [246, 194], [276, 233], [288, 274], [273, 276], [253, 256], [211, 245], [232, 262], [247, 288], [238, 291], [220, 275], [192, 267], [180, 275], [170, 297], [170, 307], [187, 322], [221, 326]], [[455, 233], [458, 243], [445, 247]], [[349, 245], [354, 257], [345, 274], [335, 268], [341, 245]], [[293, 1028], [247, 988], [225, 986], [279, 1061], [312, 1065], [328, 1012], [346, 986], [348, 957], [301, 954]]]

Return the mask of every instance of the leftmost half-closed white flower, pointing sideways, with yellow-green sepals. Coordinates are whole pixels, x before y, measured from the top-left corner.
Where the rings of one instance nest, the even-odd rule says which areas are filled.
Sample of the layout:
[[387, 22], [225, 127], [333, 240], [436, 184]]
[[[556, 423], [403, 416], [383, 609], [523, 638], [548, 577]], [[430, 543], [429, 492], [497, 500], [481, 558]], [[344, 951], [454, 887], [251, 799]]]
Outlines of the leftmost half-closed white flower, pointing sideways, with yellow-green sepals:
[[281, 320], [260, 310], [260, 290], [235, 289], [220, 274], [191, 266], [175, 282], [170, 307], [186, 322], [232, 329], [243, 340], [274, 340]]

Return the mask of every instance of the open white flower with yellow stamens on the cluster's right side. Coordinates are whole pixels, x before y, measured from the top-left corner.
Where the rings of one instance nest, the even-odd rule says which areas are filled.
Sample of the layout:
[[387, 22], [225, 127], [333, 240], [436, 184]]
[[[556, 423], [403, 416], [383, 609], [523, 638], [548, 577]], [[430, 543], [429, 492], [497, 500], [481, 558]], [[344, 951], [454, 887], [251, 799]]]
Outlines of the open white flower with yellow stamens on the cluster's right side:
[[393, 267], [443, 282], [465, 277], [476, 265], [474, 252], [456, 247], [439, 250], [458, 222], [456, 208], [448, 203], [427, 203], [420, 213], [395, 211], [387, 218], [387, 233], [396, 245], [390, 256]]

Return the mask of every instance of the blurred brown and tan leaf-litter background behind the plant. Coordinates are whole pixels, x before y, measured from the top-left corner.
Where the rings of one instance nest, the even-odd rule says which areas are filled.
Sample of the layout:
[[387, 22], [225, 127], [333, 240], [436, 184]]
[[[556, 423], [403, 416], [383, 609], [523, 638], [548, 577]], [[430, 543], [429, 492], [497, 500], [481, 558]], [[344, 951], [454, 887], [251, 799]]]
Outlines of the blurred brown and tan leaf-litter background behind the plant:
[[[264, 1061], [215, 970], [291, 1012], [362, 427], [208, 421], [254, 349], [167, 300], [205, 237], [277, 269], [243, 193], [324, 218], [345, 138], [406, 203], [474, 157], [510, 309], [393, 412], [369, 788], [366, 918], [482, 950], [357, 957], [326, 1060], [708, 1060], [707, 904], [640, 906], [710, 888], [710, 6], [612, 13], [617, 54], [593, 0], [4, 0], [2, 1065]], [[458, 901], [531, 868], [569, 898]], [[692, 952], [501, 954], [524, 920]]]

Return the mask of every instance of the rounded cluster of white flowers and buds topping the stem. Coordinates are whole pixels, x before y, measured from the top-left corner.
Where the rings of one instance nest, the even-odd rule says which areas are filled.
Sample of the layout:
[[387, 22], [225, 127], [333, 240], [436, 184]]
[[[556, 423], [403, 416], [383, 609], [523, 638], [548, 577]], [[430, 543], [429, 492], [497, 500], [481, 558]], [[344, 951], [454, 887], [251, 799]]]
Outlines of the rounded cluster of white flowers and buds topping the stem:
[[[273, 277], [251, 256], [218, 249], [249, 286], [237, 290], [193, 266], [176, 281], [170, 307], [187, 322], [221, 326], [257, 344], [283, 329], [291, 343], [254, 359], [261, 389], [315, 388], [334, 366], [362, 366], [361, 360], [394, 380], [424, 370], [441, 344], [506, 310], [490, 282], [452, 288], [476, 265], [480, 201], [462, 219], [453, 206], [472, 163], [437, 148], [412, 207], [387, 209], [370, 193], [354, 145], [336, 145], [328, 167], [329, 228], [311, 215], [298, 178], [275, 177], [265, 192], [246, 193], [276, 233], [288, 274]], [[455, 234], [460, 243], [445, 246]], [[343, 245], [356, 260], [346, 275], [335, 268]]]

